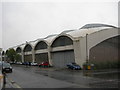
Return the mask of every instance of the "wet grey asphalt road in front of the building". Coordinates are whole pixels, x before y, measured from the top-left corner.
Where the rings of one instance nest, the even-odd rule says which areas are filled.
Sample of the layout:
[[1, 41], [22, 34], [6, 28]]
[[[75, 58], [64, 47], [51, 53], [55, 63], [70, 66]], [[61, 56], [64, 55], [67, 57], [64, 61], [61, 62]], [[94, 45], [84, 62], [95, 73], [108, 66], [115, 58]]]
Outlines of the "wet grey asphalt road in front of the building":
[[[116, 88], [118, 76], [84, 73], [83, 70], [25, 67], [13, 65], [13, 73], [7, 73], [6, 88]], [[103, 77], [101, 77], [103, 76]], [[110, 76], [110, 77], [109, 77]]]

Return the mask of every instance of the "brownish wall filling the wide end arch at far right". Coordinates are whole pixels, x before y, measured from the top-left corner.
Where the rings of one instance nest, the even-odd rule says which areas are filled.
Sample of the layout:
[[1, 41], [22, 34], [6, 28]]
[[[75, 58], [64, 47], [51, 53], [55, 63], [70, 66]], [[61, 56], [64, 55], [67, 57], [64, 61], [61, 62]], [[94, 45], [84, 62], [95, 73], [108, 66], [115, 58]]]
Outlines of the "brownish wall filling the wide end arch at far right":
[[120, 35], [106, 39], [90, 49], [89, 61], [92, 63], [118, 62]]

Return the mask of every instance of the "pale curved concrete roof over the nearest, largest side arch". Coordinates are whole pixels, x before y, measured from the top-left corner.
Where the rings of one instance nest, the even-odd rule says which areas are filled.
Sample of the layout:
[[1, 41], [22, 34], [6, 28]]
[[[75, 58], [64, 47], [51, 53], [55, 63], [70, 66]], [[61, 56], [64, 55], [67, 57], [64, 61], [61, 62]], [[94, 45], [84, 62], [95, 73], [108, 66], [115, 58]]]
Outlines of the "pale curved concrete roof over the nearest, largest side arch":
[[[92, 24], [90, 24], [92, 25]], [[98, 25], [99, 26], [99, 25]], [[113, 29], [116, 29], [118, 30], [118, 28], [114, 27], [114, 26], [110, 26], [110, 25], [103, 25], [101, 24], [100, 27], [94, 27], [94, 28], [80, 28], [78, 30], [70, 30], [68, 32], [62, 32], [61, 34], [59, 34], [56, 38], [54, 38], [51, 42], [51, 45], [53, 44], [53, 42], [58, 38], [58, 37], [61, 37], [61, 36], [67, 36], [69, 38], [71, 38], [73, 41], [74, 40], [77, 40], [79, 38], [82, 38], [82, 37], [86, 37], [86, 34], [92, 34], [92, 33], [96, 33], [96, 32], [99, 32], [99, 31], [102, 31], [102, 30], [109, 30], [111, 28]]]

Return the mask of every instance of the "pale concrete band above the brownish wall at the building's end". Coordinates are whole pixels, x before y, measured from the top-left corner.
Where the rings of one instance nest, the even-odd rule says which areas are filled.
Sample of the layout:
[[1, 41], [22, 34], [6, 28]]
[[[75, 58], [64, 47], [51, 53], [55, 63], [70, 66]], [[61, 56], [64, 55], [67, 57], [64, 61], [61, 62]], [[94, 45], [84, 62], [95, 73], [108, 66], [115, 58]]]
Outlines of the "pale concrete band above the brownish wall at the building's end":
[[87, 40], [88, 41], [88, 54], [92, 47], [98, 45], [104, 40], [118, 36], [119, 35], [118, 30], [119, 30], [118, 28], [110, 28], [110, 29], [103, 29], [101, 31], [89, 34], [88, 40]]

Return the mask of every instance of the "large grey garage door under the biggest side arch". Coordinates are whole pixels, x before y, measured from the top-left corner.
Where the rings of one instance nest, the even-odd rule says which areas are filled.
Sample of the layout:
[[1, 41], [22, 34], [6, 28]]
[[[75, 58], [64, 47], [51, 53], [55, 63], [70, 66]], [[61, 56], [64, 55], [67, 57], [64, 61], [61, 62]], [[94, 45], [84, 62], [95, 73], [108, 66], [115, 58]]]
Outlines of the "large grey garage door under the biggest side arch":
[[74, 51], [59, 51], [52, 53], [53, 65], [55, 67], [64, 68], [66, 64], [75, 62]]

